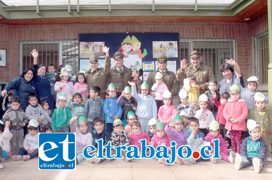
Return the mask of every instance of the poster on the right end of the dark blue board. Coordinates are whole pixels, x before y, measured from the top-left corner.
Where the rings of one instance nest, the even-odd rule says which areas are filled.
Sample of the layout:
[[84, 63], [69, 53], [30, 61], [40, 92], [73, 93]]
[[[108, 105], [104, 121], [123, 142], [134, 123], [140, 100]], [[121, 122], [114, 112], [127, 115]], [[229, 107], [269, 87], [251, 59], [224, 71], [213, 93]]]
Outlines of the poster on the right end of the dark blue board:
[[165, 55], [167, 58], [178, 58], [177, 41], [153, 41], [153, 58]]

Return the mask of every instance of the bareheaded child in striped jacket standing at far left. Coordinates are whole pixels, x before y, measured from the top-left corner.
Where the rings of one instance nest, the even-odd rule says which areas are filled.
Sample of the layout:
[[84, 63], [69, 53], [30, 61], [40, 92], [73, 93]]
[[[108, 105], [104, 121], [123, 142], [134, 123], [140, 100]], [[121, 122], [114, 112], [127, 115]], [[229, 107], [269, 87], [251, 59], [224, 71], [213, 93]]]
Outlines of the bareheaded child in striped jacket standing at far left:
[[20, 148], [23, 148], [24, 142], [24, 129], [28, 119], [26, 113], [20, 108], [20, 99], [16, 96], [10, 100], [10, 109], [4, 114], [2, 121], [10, 121], [10, 132], [12, 138], [10, 139], [11, 154], [18, 152]]

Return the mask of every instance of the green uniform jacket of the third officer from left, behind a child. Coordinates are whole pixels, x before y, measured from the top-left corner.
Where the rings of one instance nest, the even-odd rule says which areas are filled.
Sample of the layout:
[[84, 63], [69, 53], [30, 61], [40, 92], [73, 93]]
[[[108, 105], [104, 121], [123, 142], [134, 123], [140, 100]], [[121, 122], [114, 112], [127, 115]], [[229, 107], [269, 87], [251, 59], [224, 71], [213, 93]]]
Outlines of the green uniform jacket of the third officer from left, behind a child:
[[[157, 70], [152, 71], [147, 78], [146, 83], [149, 86], [149, 91], [151, 91], [152, 85], [156, 83], [155, 76], [157, 72], [160, 72], [159, 68]], [[163, 82], [166, 84], [167, 88], [172, 94], [172, 97], [177, 94], [179, 85], [178, 85], [176, 75], [172, 71], [169, 71], [167, 68], [165, 73], [163, 74]]]

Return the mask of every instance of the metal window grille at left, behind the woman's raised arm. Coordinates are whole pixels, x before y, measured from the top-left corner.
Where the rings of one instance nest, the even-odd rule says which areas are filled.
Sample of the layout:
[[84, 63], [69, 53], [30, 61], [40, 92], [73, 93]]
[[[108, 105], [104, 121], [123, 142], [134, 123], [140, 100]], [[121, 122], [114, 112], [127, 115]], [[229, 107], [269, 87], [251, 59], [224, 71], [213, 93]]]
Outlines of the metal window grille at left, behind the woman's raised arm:
[[[38, 64], [70, 64], [77, 73], [78, 41], [27, 41], [20, 43], [20, 74], [26, 67], [33, 66], [32, 49], [38, 51]], [[57, 69], [56, 69], [57, 73]]]

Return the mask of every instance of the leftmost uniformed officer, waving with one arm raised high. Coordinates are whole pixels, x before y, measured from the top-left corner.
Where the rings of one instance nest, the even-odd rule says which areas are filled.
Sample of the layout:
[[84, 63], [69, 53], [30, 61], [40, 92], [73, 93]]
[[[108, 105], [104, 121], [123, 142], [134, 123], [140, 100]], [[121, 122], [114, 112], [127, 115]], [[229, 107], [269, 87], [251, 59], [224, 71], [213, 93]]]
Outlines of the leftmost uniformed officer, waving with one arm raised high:
[[92, 55], [90, 57], [91, 68], [86, 73], [86, 81], [88, 84], [88, 89], [90, 89], [91, 86], [99, 86], [101, 89], [99, 96], [102, 99], [105, 99], [107, 74], [111, 64], [110, 64], [109, 48], [104, 46], [103, 52], [105, 53], [105, 60], [106, 60], [105, 67], [98, 68], [98, 58], [95, 55]]

